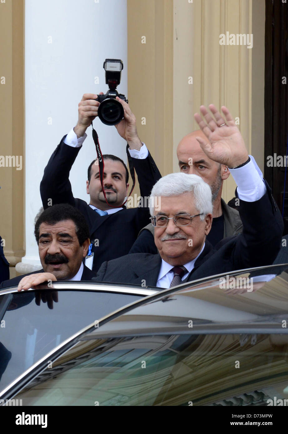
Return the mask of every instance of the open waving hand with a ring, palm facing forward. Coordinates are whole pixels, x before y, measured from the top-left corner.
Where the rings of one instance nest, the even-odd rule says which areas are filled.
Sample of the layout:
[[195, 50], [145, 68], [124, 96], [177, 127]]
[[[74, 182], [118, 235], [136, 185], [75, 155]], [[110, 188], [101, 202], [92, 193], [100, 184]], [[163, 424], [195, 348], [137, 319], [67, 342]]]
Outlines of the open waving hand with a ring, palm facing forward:
[[209, 109], [212, 115], [205, 105], [200, 106], [201, 115], [205, 120], [199, 113], [194, 115], [195, 121], [208, 139], [205, 141], [201, 137], [196, 137], [202, 150], [211, 160], [225, 164], [228, 168], [245, 163], [248, 160], [248, 151], [229, 110], [223, 105], [222, 116], [215, 105], [210, 104]]

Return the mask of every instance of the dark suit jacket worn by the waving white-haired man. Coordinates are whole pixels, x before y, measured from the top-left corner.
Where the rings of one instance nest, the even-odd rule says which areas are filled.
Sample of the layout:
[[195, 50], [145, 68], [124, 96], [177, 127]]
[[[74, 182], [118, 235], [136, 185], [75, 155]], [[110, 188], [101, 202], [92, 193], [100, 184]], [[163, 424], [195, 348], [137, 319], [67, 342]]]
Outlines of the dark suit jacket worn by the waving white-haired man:
[[[214, 248], [206, 240], [186, 281], [273, 263], [284, 225], [268, 184], [266, 187], [265, 195], [258, 201], [240, 201], [243, 232], [225, 238]], [[134, 253], [103, 263], [93, 280], [156, 286], [160, 267], [159, 254]]]

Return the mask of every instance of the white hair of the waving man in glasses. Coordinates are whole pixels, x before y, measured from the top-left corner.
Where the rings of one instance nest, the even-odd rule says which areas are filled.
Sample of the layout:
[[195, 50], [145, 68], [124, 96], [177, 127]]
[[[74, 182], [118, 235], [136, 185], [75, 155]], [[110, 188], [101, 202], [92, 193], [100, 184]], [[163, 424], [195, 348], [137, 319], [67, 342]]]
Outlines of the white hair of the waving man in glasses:
[[152, 188], [150, 195], [150, 214], [154, 215], [153, 206], [156, 203], [156, 198], [161, 196], [179, 196], [185, 193], [192, 193], [194, 197], [194, 205], [198, 210], [201, 220], [204, 220], [205, 215], [212, 214], [212, 192], [211, 187], [198, 175], [189, 175], [182, 172], [170, 173], [163, 176], [156, 182]]

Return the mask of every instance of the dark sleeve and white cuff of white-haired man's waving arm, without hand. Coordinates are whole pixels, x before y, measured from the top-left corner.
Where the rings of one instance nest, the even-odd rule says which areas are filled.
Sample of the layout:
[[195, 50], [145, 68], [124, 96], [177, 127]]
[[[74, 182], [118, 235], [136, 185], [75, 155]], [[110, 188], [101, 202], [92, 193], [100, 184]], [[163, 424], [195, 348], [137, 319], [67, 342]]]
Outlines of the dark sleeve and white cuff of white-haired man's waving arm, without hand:
[[263, 180], [254, 158], [250, 158], [242, 168], [231, 169], [237, 182], [236, 194], [243, 222], [243, 232], [238, 235], [233, 252], [235, 270], [272, 264], [280, 250], [284, 229], [271, 188]]

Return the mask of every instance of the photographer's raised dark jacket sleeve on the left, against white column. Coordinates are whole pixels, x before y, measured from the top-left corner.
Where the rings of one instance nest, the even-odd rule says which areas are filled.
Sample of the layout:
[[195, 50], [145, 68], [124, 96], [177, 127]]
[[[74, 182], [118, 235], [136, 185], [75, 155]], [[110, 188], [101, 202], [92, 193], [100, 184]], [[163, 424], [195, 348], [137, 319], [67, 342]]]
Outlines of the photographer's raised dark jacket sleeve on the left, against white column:
[[71, 167], [81, 147], [66, 145], [64, 136], [50, 157], [42, 181], [40, 194], [43, 208], [48, 207], [48, 200], [52, 199], [53, 205], [67, 203], [75, 206], [69, 174]]

